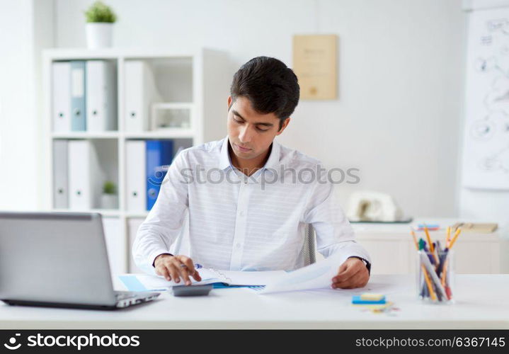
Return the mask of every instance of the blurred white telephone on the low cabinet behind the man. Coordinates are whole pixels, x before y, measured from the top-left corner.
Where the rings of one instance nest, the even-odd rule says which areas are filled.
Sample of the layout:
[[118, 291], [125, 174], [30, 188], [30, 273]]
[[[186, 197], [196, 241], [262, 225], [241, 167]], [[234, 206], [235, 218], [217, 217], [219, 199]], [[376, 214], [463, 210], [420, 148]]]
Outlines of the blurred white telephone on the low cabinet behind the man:
[[363, 191], [350, 196], [347, 217], [352, 222], [396, 222], [403, 212], [391, 195]]

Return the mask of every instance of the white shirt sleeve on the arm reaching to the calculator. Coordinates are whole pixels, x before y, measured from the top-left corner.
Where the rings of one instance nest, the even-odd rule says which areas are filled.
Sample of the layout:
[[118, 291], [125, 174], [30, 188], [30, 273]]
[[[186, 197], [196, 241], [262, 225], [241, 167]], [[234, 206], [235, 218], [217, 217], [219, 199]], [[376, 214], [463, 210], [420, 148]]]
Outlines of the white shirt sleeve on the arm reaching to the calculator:
[[[170, 253], [170, 246], [181, 232], [188, 209], [188, 183], [190, 175], [187, 152], [178, 154], [161, 183], [157, 200], [147, 219], [139, 226], [132, 256], [137, 267], [155, 274], [154, 260], [162, 253]], [[188, 172], [186, 172], [188, 171]]]

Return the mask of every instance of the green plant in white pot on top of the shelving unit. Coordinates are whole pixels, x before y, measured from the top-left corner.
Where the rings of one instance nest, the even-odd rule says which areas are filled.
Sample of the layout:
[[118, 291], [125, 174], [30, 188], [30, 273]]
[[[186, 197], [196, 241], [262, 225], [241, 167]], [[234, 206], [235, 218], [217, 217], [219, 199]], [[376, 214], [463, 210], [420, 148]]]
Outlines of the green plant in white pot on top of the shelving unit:
[[111, 47], [113, 23], [117, 16], [102, 1], [96, 1], [85, 11], [86, 43], [90, 49]]

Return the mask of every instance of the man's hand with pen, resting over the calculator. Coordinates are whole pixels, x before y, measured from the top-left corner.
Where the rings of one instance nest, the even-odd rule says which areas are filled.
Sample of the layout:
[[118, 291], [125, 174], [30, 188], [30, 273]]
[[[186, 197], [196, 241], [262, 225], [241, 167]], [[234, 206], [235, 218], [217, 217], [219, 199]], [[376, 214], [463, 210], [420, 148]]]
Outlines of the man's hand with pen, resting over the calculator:
[[166, 280], [180, 282], [181, 277], [185, 285], [191, 285], [189, 275], [196, 281], [202, 280], [198, 270], [195, 269], [193, 260], [187, 256], [171, 256], [170, 254], [160, 254], [154, 261], [156, 274], [164, 276]]

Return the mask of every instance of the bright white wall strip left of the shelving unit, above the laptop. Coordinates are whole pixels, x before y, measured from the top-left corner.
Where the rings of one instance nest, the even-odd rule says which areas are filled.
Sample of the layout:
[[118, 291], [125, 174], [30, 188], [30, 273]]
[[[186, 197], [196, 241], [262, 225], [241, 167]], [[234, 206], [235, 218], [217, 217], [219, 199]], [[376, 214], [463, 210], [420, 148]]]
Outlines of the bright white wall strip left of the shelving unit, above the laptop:
[[52, 0], [0, 0], [0, 210], [40, 207], [40, 50], [52, 45]]

